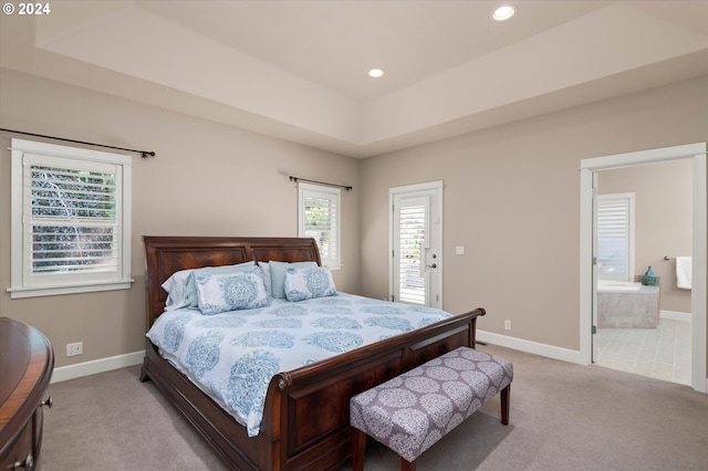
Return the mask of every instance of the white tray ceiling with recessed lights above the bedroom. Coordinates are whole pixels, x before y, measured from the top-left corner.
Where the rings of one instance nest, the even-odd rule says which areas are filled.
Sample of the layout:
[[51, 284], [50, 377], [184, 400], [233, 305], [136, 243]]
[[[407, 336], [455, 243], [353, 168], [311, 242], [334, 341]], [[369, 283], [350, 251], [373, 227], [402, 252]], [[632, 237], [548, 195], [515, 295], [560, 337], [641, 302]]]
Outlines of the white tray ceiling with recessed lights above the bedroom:
[[54, 1], [0, 66], [353, 157], [708, 74], [708, 1], [500, 3]]

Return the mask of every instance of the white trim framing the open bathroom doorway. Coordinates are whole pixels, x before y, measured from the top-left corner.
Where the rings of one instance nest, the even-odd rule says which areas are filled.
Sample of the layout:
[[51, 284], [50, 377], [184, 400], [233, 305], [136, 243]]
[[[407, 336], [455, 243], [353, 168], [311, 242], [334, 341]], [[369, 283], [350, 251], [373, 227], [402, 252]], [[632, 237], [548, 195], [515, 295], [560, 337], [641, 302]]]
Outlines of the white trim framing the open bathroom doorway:
[[592, 363], [592, 178], [597, 170], [658, 161], [693, 160], [691, 387], [708, 391], [706, 374], [706, 143], [663, 147], [581, 160], [580, 355]]

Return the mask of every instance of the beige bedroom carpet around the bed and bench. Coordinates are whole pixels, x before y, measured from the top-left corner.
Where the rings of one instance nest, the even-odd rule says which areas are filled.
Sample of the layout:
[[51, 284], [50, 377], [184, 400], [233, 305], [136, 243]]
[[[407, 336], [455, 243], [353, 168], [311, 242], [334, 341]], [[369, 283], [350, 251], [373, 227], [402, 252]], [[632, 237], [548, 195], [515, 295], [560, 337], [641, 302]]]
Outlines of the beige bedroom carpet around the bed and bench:
[[[418, 470], [706, 470], [708, 395], [688, 386], [497, 346], [514, 364], [510, 423], [499, 398], [426, 451]], [[42, 470], [226, 470], [139, 367], [50, 386]], [[348, 464], [342, 470], [350, 469]], [[397, 470], [382, 446], [366, 470]]]

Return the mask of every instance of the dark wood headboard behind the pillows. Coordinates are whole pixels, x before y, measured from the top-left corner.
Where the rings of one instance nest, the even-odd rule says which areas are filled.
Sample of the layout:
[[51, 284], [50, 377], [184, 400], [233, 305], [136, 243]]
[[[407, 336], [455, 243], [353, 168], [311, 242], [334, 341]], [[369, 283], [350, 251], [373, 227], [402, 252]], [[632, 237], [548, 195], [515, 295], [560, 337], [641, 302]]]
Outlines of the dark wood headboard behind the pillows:
[[220, 266], [250, 260], [313, 261], [321, 264], [312, 238], [145, 236], [147, 328], [165, 311], [163, 283], [180, 270]]

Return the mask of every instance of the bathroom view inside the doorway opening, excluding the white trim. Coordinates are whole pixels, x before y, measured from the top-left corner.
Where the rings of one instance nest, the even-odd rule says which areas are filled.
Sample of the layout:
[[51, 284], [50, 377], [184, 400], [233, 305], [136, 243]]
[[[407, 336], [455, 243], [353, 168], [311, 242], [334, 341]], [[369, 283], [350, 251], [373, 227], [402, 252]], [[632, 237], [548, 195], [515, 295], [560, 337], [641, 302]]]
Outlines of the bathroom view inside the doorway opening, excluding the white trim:
[[691, 167], [678, 159], [595, 172], [598, 366], [690, 385], [691, 293], [676, 274], [693, 251]]

